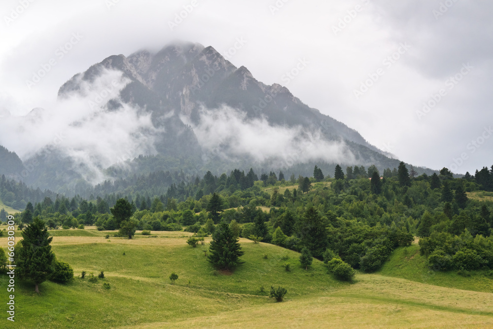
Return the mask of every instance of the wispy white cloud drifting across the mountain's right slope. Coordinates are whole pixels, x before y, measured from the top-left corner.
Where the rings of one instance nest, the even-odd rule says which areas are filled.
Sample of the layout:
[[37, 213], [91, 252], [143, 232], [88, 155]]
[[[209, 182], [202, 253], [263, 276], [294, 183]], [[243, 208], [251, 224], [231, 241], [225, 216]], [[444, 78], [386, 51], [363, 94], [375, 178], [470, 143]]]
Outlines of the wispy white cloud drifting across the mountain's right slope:
[[186, 117], [181, 119], [192, 126], [205, 150], [206, 161], [211, 156], [229, 161], [249, 156], [258, 164], [274, 167], [289, 167], [310, 160], [355, 161], [344, 142], [327, 141], [319, 130], [273, 126], [265, 117], [247, 119], [245, 112], [227, 106], [214, 110], [203, 108], [200, 117], [198, 125]]

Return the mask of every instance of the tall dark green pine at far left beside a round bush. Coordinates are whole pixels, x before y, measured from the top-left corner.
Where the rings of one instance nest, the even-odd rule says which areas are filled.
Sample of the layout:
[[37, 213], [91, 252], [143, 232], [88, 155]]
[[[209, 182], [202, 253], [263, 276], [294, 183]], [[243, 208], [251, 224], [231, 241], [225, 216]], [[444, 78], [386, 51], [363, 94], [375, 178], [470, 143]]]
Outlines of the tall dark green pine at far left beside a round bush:
[[51, 240], [44, 222], [36, 217], [22, 231], [21, 248], [17, 248], [17, 269], [22, 278], [35, 283], [35, 292], [39, 293], [38, 285], [46, 281], [53, 272], [55, 254], [51, 251]]

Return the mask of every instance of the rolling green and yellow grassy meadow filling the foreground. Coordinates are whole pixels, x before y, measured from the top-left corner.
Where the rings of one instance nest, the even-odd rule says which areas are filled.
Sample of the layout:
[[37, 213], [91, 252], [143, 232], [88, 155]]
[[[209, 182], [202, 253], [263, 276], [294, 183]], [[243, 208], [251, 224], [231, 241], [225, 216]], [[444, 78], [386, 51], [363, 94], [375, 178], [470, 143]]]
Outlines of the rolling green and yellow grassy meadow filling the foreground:
[[[306, 271], [298, 253], [270, 244], [241, 239], [245, 264], [231, 274], [206, 261], [210, 238], [197, 248], [186, 244], [184, 232], [105, 239], [114, 232], [57, 230], [53, 251], [71, 264], [76, 278], [68, 285], [44, 282], [41, 295], [34, 285], [16, 281], [16, 322], [9, 328], [493, 326], [493, 281], [482, 273], [468, 278], [430, 273], [417, 245], [397, 249], [379, 273], [358, 273], [349, 284], [336, 281], [317, 260]], [[1, 247], [6, 244], [0, 238]], [[282, 267], [286, 261], [290, 272]], [[103, 270], [105, 279], [82, 280], [77, 276], [83, 270], [87, 275]], [[175, 285], [168, 279], [172, 272], [179, 276]], [[6, 277], [0, 281], [5, 287]], [[104, 289], [103, 282], [111, 288]], [[268, 298], [271, 285], [287, 289], [282, 303]], [[5, 300], [6, 292], [0, 295]]]

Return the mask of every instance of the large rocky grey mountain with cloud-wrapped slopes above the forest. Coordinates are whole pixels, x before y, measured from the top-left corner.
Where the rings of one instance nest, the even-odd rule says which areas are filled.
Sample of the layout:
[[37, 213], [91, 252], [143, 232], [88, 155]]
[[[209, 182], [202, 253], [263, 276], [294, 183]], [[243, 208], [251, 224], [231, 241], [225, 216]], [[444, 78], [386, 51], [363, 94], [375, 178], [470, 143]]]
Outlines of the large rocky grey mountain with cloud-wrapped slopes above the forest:
[[[129, 111], [134, 113], [130, 121], [148, 116], [151, 124], [127, 132], [126, 137], [137, 136], [127, 141], [133, 146], [107, 147], [100, 154], [92, 143], [95, 150], [84, 159], [82, 146], [51, 145], [38, 152], [29, 161], [40, 165], [27, 183], [56, 191], [156, 170], [182, 170], [189, 176], [250, 167], [289, 173], [293, 166], [309, 172], [313, 167], [308, 164], [318, 163], [333, 172], [339, 163], [375, 164], [383, 172], [399, 162], [286, 87], [266, 85], [246, 67], [237, 68], [211, 46], [197, 43], [109, 56], [70, 78], [58, 100], [97, 108], [70, 123], [73, 129], [87, 126], [88, 134], [95, 130], [89, 129], [94, 117], [114, 120], [118, 116], [111, 115]], [[125, 154], [111, 158], [112, 148]]]

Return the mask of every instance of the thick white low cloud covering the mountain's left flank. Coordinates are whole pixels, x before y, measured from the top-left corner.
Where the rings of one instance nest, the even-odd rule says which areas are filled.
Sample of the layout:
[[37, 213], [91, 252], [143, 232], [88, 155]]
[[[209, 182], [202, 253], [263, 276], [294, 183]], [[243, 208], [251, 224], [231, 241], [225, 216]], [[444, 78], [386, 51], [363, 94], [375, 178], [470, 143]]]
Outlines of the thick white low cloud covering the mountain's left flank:
[[[0, 145], [28, 160], [50, 147], [69, 156], [74, 168], [90, 183], [106, 177], [103, 170], [139, 154], [154, 154], [151, 114], [120, 101], [129, 82], [119, 71], [104, 71], [48, 109], [34, 109], [26, 116], [4, 115]], [[112, 106], [108, 106], [108, 101]]]

